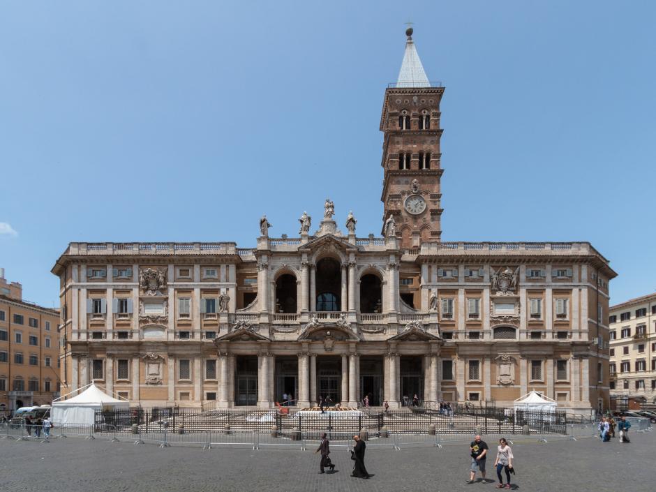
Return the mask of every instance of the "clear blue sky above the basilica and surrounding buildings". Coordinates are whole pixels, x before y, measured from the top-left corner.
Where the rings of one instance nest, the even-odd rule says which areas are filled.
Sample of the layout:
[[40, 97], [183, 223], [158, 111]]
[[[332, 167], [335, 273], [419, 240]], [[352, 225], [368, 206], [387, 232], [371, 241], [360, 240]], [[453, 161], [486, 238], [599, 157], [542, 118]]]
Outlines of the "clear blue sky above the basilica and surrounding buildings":
[[405, 25], [442, 99], [442, 239], [590, 241], [656, 290], [656, 3], [0, 1], [0, 266], [58, 299], [70, 241], [378, 234]]

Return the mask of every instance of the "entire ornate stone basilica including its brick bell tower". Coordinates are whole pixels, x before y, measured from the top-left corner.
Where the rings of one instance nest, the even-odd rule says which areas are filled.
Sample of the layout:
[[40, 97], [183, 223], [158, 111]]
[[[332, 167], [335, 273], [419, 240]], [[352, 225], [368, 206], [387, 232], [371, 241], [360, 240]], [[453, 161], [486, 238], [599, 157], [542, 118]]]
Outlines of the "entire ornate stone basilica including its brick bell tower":
[[570, 412], [608, 407], [616, 273], [586, 242], [441, 241], [444, 88], [406, 35], [380, 120], [382, 236], [326, 200], [298, 237], [260, 218], [255, 248], [71, 243], [52, 269], [62, 394], [94, 381], [144, 408], [396, 408], [535, 389]]

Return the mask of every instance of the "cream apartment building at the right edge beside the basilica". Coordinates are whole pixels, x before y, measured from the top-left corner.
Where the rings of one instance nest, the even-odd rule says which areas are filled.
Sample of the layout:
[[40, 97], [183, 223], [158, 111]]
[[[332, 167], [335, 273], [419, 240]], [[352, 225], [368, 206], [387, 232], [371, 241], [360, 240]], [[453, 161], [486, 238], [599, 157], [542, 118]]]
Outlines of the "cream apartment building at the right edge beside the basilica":
[[610, 308], [611, 396], [638, 408], [656, 403], [656, 294]]

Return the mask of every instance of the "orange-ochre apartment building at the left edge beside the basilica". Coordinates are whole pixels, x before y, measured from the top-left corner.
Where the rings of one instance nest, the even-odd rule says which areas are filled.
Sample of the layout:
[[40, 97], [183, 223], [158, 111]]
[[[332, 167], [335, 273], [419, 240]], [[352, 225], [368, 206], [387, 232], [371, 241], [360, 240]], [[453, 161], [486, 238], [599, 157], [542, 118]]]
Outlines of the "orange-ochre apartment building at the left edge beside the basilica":
[[0, 415], [59, 396], [59, 311], [22, 299], [0, 268]]

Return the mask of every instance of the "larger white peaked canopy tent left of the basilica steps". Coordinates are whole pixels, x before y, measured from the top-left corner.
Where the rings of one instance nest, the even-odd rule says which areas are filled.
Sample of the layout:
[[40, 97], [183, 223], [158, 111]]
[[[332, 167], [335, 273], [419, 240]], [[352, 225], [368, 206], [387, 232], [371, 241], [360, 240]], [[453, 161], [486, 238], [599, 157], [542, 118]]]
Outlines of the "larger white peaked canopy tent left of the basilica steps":
[[[84, 391], [82, 391], [83, 389]], [[80, 393], [66, 400], [63, 399], [76, 392]], [[96, 422], [97, 410], [127, 410], [130, 408], [128, 400], [119, 398], [108, 395], [92, 382], [87, 387], [82, 387], [53, 400], [50, 412], [52, 421], [60, 425], [93, 425]]]

